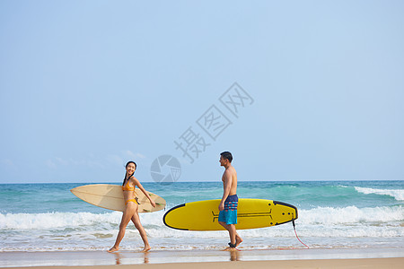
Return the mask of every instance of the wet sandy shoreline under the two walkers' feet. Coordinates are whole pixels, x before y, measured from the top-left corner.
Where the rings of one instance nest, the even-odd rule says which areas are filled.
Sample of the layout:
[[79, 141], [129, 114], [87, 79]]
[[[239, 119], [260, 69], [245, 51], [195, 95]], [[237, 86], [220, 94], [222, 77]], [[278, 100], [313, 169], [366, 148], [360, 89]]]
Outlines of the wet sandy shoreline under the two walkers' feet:
[[[391, 248], [294, 248], [242, 251], [218, 250], [155, 250], [148, 253], [135, 251], [52, 251], [52, 252], [1, 252], [0, 268], [109, 268], [108, 266], [147, 265], [150, 269], [179, 269], [192, 265], [223, 268], [241, 262], [244, 267], [261, 268], [398, 268], [404, 264], [404, 250]], [[216, 265], [219, 265], [217, 266]], [[329, 265], [333, 267], [327, 267]], [[352, 267], [346, 267], [347, 265]], [[397, 267], [394, 267], [396, 266]], [[289, 266], [289, 267], [288, 267]], [[303, 266], [303, 267], [302, 267]], [[306, 267], [304, 267], [306, 266]], [[372, 267], [373, 266], [373, 267]], [[185, 268], [185, 267], [184, 267]]]

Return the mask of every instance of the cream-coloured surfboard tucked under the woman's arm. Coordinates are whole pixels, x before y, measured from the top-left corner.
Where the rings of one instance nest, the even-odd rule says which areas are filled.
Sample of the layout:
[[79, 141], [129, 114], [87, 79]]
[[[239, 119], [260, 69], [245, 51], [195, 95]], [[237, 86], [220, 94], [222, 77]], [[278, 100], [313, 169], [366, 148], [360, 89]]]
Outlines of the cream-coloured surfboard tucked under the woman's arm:
[[[110, 184], [92, 184], [72, 188], [70, 190], [74, 195], [83, 201], [102, 208], [124, 211], [125, 201], [123, 197], [122, 187], [119, 185]], [[138, 213], [150, 213], [159, 211], [165, 208], [165, 200], [159, 195], [147, 192], [155, 203], [155, 207], [150, 204], [149, 199], [138, 188], [135, 189], [137, 202], [139, 207]]]

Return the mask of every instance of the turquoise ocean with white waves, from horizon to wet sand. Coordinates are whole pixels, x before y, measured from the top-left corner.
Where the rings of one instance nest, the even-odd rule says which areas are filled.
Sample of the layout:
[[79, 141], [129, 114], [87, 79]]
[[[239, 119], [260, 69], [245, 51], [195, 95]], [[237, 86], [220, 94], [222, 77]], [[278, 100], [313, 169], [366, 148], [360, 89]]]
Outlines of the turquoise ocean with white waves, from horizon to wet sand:
[[[94, 183], [92, 183], [94, 184]], [[117, 183], [111, 183], [119, 185]], [[70, 192], [79, 184], [0, 185], [0, 252], [104, 251], [112, 247], [121, 214], [87, 204]], [[143, 183], [161, 195], [166, 209], [141, 213], [155, 250], [215, 250], [227, 247], [226, 231], [172, 230], [162, 222], [171, 207], [220, 199], [219, 182]], [[311, 248], [404, 248], [404, 181], [239, 182], [240, 198], [270, 199], [297, 207], [299, 239]], [[304, 248], [292, 223], [239, 230], [243, 249]], [[120, 248], [138, 251], [142, 240], [133, 223]]]

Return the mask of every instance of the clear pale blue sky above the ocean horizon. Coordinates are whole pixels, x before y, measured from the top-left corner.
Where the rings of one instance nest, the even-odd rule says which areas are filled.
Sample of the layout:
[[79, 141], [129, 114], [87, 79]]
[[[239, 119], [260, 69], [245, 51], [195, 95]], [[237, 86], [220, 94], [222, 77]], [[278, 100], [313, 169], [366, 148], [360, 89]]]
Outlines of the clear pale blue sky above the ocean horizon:
[[2, 0], [0, 183], [403, 180], [403, 13]]

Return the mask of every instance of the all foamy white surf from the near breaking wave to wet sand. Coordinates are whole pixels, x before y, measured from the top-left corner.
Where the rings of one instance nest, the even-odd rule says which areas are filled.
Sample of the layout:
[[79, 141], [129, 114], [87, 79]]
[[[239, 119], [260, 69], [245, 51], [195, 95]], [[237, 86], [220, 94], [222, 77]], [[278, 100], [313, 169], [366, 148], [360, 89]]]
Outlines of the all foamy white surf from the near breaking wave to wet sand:
[[[223, 247], [228, 240], [225, 231], [170, 229], [162, 223], [164, 213], [140, 214], [151, 243], [161, 249], [213, 249]], [[108, 249], [117, 236], [120, 218], [119, 212], [0, 214], [0, 251]], [[403, 221], [402, 206], [348, 206], [300, 210], [295, 222], [299, 236], [308, 244], [355, 247], [355, 244], [362, 246], [363, 242], [390, 244], [394, 241], [395, 245], [403, 245], [400, 240], [404, 237]], [[292, 223], [239, 230], [239, 233], [246, 247], [294, 246], [297, 242]], [[347, 238], [352, 240], [344, 240]], [[136, 250], [141, 246], [138, 231], [129, 224], [122, 249]]]

